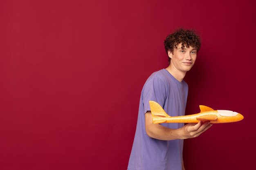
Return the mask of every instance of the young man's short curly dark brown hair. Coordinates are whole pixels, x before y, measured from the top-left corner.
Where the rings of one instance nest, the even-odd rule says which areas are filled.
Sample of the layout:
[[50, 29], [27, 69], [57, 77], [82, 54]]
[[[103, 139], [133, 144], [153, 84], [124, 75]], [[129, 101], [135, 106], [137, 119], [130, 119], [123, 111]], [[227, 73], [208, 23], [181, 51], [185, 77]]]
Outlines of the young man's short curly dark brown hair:
[[[196, 35], [195, 30], [178, 29], [168, 35], [164, 40], [164, 49], [166, 51], [166, 54], [168, 55], [168, 50], [173, 52], [174, 48], [177, 49], [177, 45], [180, 43], [182, 43], [182, 49], [184, 49], [186, 45], [187, 48], [189, 48], [189, 46], [192, 46], [197, 51], [199, 51], [201, 46], [200, 37]], [[168, 61], [170, 63], [170, 57], [168, 57]]]

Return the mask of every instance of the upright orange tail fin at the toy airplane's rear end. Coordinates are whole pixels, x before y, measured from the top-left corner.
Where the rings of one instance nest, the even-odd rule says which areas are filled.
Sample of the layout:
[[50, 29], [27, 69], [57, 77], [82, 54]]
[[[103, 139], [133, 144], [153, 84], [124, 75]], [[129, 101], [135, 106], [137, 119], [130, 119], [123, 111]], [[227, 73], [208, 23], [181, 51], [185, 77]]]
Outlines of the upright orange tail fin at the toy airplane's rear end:
[[165, 118], [171, 117], [164, 111], [162, 106], [160, 106], [157, 102], [149, 101], [149, 106], [154, 124], [164, 123], [166, 122]]

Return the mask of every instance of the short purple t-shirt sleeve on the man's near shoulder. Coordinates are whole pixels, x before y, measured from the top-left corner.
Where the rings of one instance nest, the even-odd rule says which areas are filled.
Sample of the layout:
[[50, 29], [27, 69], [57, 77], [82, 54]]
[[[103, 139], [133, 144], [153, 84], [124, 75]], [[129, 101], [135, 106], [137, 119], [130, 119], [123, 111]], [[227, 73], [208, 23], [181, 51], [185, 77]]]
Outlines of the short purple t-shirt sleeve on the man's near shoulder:
[[167, 86], [158, 77], [152, 77], [144, 86], [144, 91], [142, 94], [144, 114], [150, 111], [149, 101], [155, 101], [159, 103], [162, 107], [164, 106], [164, 101], [167, 94]]

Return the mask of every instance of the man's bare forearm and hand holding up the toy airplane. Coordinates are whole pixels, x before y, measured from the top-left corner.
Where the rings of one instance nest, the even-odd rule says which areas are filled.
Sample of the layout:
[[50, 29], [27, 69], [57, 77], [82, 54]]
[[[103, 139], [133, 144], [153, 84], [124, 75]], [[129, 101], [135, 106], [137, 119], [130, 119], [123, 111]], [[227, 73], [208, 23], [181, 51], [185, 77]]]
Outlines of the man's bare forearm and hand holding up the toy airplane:
[[146, 133], [149, 137], [159, 140], [174, 140], [198, 137], [209, 129], [212, 124], [210, 124], [209, 121], [205, 123], [200, 121], [198, 124], [186, 124], [182, 128], [170, 129], [160, 124], [153, 124], [151, 112], [147, 111], [147, 113], [145, 113], [145, 126]]

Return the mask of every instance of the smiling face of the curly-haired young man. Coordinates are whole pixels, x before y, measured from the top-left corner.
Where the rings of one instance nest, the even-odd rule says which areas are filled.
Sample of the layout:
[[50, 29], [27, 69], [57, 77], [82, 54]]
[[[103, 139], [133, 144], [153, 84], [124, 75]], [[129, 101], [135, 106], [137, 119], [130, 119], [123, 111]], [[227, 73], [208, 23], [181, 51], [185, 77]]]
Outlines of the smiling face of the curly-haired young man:
[[195, 63], [196, 49], [189, 46], [182, 49], [182, 43], [177, 45], [177, 49], [173, 49], [173, 52], [168, 51], [168, 56], [171, 58], [171, 66], [177, 71], [187, 72]]

